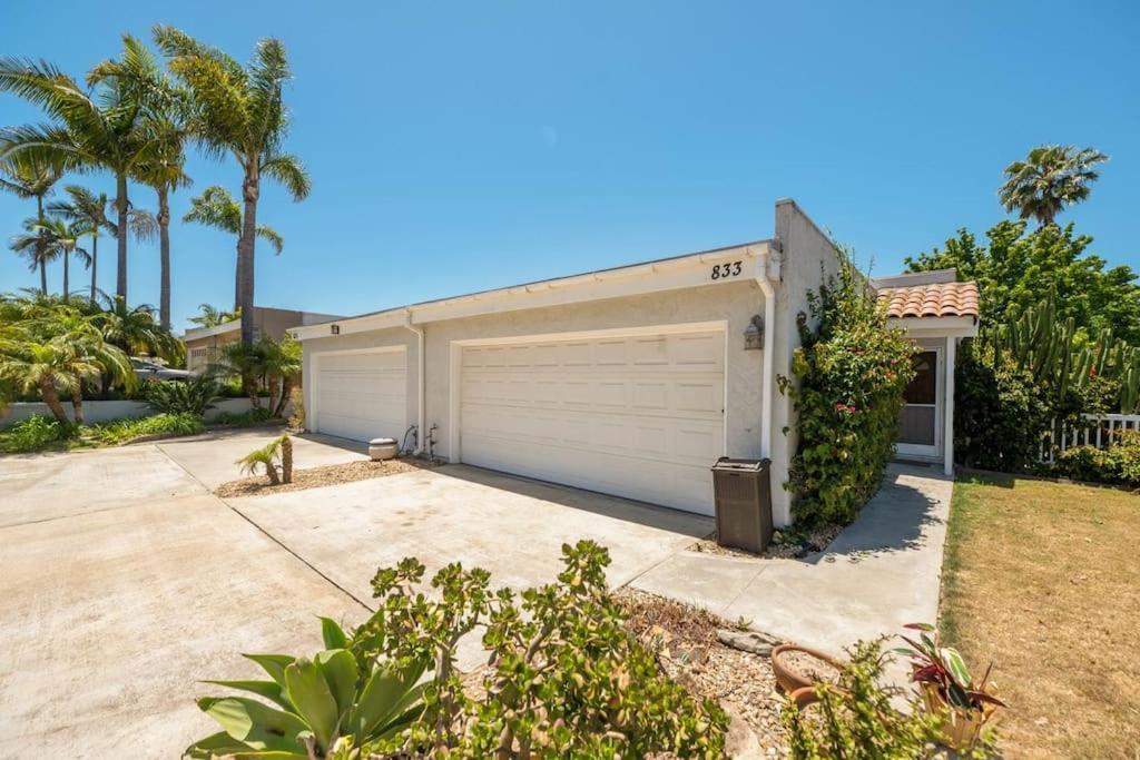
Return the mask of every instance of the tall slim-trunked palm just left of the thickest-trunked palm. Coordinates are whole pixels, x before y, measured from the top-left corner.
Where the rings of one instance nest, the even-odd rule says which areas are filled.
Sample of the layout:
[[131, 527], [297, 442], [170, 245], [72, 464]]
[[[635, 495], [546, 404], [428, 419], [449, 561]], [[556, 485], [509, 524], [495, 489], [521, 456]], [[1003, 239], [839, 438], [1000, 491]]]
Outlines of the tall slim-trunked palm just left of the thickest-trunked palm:
[[150, 50], [130, 34], [123, 35], [122, 56], [95, 66], [87, 80], [89, 84], [113, 82], [132, 103], [142, 107], [141, 131], [155, 149], [147, 161], [136, 167], [135, 179], [152, 188], [157, 196], [158, 314], [162, 326], [170, 329], [170, 194], [190, 185], [185, 171], [186, 134], [179, 123], [186, 93], [171, 84]]

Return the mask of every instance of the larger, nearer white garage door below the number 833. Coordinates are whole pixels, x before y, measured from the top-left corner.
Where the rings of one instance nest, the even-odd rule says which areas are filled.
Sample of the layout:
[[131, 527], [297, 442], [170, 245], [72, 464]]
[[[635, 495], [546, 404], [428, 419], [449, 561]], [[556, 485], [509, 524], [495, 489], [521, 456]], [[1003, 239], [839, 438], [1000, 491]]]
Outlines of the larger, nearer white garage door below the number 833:
[[712, 514], [724, 333], [463, 349], [464, 461]]

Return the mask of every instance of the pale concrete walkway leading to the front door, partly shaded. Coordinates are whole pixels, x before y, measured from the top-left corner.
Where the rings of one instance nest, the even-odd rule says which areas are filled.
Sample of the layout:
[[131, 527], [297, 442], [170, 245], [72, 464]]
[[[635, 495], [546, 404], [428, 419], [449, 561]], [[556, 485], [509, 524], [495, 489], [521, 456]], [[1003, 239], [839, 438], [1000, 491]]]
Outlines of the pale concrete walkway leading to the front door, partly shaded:
[[632, 585], [838, 655], [905, 623], [936, 622], [952, 489], [935, 468], [891, 465], [825, 551], [804, 559], [681, 551]]

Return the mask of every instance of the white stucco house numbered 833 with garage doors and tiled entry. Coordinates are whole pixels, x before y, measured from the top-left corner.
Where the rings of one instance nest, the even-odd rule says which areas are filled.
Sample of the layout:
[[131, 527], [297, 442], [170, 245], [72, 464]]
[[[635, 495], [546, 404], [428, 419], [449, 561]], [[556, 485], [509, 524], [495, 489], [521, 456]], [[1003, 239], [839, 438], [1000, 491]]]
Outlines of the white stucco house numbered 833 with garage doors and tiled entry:
[[[776, 377], [791, 376], [808, 292], [837, 268], [832, 242], [780, 201], [772, 239], [298, 327], [307, 425], [401, 442], [415, 425], [418, 449], [430, 431], [450, 461], [701, 514], [718, 457], [767, 457], [785, 525], [797, 441]], [[922, 277], [882, 293], [930, 349], [905, 453], [948, 467], [954, 346], [977, 329], [976, 288]]]

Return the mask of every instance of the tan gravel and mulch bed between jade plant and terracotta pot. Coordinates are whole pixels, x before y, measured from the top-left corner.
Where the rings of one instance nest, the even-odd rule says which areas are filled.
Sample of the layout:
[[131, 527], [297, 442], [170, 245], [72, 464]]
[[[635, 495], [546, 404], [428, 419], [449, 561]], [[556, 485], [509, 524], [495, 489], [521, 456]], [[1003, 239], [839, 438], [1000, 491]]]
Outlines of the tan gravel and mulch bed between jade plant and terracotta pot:
[[719, 702], [733, 721], [743, 721], [744, 727], [731, 729], [736, 739], [730, 742], [736, 747], [730, 749], [758, 745], [764, 757], [788, 755], [787, 733], [780, 722], [787, 700], [777, 690], [772, 661], [717, 640], [717, 629], [734, 626], [705, 610], [632, 588], [618, 591], [617, 598], [625, 607], [627, 628], [657, 653], [668, 676], [693, 696]]

